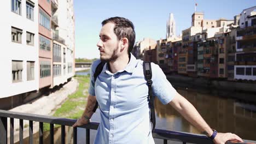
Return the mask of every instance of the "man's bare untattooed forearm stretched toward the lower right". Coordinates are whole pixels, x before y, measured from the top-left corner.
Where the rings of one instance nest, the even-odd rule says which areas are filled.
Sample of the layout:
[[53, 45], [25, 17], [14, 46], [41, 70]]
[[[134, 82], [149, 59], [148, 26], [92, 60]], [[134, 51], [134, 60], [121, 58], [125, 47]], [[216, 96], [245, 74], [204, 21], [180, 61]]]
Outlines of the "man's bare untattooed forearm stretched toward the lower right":
[[211, 136], [213, 131], [209, 127], [209, 125], [205, 122], [205, 120], [201, 117], [199, 112], [195, 109], [195, 107], [189, 103], [187, 99], [182, 97], [177, 93], [177, 97], [174, 97], [174, 101], [171, 101], [170, 104], [176, 109], [181, 115], [187, 119], [191, 124], [194, 125], [198, 130], [200, 130], [203, 134], [207, 136]]

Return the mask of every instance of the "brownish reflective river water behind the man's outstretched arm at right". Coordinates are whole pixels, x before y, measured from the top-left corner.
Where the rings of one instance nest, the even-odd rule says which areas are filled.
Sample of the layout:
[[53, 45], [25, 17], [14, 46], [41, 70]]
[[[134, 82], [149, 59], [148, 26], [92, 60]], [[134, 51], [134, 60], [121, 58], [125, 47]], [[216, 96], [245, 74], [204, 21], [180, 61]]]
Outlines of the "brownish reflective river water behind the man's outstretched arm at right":
[[[256, 140], [256, 106], [241, 103], [234, 99], [221, 98], [207, 92], [188, 91], [176, 88], [186, 99], [193, 104], [205, 121], [212, 128], [220, 132], [230, 132], [243, 139]], [[162, 105], [156, 99], [155, 109], [157, 124], [160, 129], [198, 133], [179, 113], [170, 105]]]

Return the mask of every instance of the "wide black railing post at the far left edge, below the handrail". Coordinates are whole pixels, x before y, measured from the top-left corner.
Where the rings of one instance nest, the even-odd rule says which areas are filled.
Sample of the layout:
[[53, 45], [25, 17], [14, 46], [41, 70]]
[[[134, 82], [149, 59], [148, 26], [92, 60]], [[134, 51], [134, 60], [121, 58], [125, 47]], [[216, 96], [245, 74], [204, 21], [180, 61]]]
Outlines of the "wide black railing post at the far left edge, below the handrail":
[[7, 144], [7, 117], [0, 117], [1, 144]]

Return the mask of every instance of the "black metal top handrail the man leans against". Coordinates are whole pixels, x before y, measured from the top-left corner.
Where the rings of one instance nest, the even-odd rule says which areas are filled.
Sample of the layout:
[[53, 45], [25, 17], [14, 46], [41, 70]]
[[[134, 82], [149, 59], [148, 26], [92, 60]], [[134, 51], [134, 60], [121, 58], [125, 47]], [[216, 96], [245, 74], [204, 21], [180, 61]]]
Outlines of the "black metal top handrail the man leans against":
[[[72, 125], [77, 121], [76, 119], [68, 119], [68, 118], [58, 118], [53, 116], [43, 116], [43, 115], [35, 115], [30, 113], [21, 113], [21, 112], [12, 112], [0, 110], [0, 117], [10, 117], [10, 118], [18, 118], [18, 119], [26, 119], [28, 121], [36, 121], [36, 122], [44, 122], [60, 125], [67, 125], [72, 127]], [[82, 125], [79, 128], [85, 129], [93, 129], [97, 130], [99, 123], [90, 122], [88, 124]], [[22, 128], [22, 127], [21, 127]], [[153, 137], [156, 139], [164, 139], [171, 141], [183, 141], [190, 143], [212, 143], [212, 140], [208, 139], [205, 135], [200, 134], [191, 134], [191, 133], [183, 133], [179, 131], [168, 131], [162, 129], [154, 129]], [[245, 142], [226, 142], [226, 143], [245, 143]]]

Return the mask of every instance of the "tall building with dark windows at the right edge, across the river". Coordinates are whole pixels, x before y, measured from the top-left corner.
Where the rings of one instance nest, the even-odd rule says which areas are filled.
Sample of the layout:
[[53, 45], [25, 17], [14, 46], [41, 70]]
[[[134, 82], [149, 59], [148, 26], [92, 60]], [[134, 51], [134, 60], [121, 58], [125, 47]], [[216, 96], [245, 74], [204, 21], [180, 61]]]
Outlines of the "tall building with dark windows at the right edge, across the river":
[[236, 31], [234, 78], [256, 80], [256, 6], [242, 11]]

